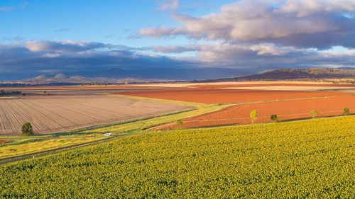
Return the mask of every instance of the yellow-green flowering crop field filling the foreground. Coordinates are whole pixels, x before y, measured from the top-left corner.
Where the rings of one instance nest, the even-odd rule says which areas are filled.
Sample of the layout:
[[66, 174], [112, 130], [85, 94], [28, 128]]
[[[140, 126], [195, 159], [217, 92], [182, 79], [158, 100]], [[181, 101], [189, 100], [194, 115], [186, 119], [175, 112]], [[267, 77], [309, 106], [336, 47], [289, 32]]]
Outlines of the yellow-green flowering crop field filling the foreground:
[[0, 198], [354, 198], [354, 124], [143, 132], [0, 166]]

